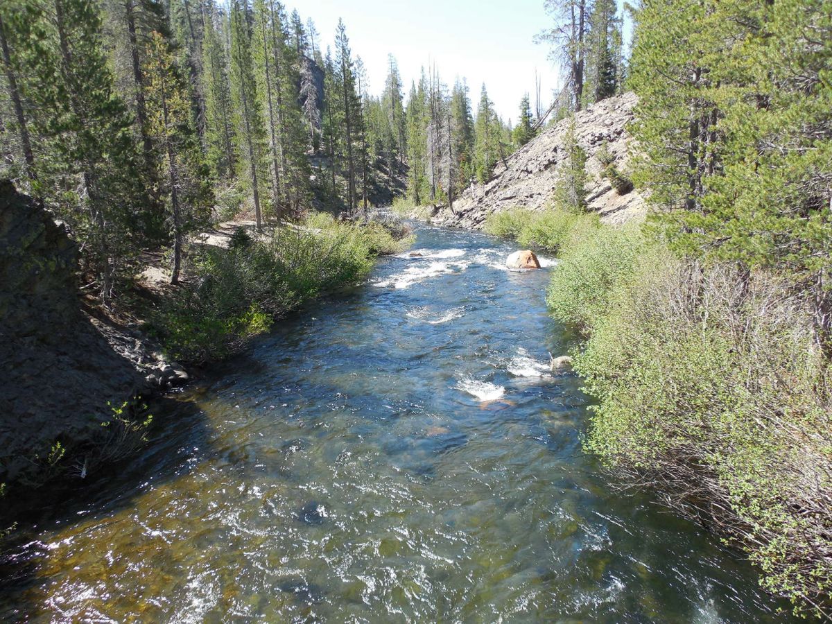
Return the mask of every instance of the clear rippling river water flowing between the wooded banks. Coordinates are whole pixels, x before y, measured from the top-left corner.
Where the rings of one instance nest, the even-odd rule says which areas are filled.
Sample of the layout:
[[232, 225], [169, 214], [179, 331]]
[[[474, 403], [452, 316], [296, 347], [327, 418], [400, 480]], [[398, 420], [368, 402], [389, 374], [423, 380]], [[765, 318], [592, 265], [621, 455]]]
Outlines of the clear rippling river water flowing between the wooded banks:
[[138, 458], [47, 512], [0, 619], [785, 622], [755, 570], [610, 488], [547, 351], [547, 270], [422, 228], [346, 300], [156, 405]]

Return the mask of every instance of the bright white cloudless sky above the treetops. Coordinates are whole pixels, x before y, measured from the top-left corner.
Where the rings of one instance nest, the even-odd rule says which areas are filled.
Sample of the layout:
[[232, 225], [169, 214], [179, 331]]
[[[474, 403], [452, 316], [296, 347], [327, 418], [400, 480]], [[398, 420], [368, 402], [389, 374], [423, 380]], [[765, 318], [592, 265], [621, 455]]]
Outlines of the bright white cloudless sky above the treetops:
[[435, 63], [443, 82], [467, 78], [474, 111], [485, 82], [488, 97], [503, 121], [516, 121], [520, 99], [534, 104], [534, 72], [541, 77], [542, 108], [557, 88], [557, 67], [546, 44], [532, 38], [552, 20], [543, 0], [287, 0], [304, 22], [311, 17], [320, 32], [321, 51], [333, 45], [338, 18], [344, 18], [353, 56], [367, 70], [369, 91], [379, 94], [387, 76], [387, 57], [399, 62], [404, 96], [421, 67]]

